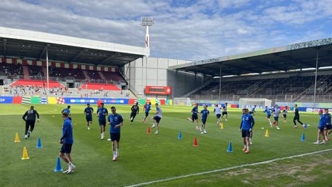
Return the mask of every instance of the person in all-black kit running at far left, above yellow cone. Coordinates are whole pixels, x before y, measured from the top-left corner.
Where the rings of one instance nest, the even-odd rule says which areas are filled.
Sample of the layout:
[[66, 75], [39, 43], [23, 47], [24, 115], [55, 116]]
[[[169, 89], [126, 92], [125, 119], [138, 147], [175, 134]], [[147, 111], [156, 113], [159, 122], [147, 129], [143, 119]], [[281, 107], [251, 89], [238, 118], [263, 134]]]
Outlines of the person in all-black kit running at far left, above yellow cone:
[[37, 116], [37, 122], [39, 122], [39, 114], [37, 110], [35, 110], [35, 107], [33, 106], [31, 106], [30, 109], [26, 111], [26, 113], [24, 113], [24, 115], [22, 116], [22, 119], [26, 122], [26, 131], [24, 132], [24, 139], [30, 138], [31, 133], [35, 128], [36, 116]]

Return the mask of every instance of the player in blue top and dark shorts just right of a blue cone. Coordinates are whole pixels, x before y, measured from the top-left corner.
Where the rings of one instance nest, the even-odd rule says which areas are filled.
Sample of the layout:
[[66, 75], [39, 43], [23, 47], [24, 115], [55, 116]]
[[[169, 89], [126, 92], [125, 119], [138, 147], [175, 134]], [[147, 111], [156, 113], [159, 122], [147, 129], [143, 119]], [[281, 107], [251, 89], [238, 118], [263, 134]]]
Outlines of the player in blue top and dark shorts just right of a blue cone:
[[240, 132], [243, 138], [243, 151], [245, 153], [249, 153], [250, 132], [252, 131], [252, 126], [255, 124], [255, 122], [254, 118], [248, 114], [248, 109], [242, 109], [242, 114]]

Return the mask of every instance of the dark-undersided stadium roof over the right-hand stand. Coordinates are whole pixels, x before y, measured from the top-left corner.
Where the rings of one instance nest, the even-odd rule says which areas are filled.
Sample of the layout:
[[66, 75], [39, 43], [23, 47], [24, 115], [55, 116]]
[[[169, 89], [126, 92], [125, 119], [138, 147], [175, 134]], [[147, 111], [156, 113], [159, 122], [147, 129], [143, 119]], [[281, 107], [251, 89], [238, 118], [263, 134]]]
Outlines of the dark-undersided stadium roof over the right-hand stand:
[[170, 66], [169, 69], [221, 76], [332, 66], [332, 38]]

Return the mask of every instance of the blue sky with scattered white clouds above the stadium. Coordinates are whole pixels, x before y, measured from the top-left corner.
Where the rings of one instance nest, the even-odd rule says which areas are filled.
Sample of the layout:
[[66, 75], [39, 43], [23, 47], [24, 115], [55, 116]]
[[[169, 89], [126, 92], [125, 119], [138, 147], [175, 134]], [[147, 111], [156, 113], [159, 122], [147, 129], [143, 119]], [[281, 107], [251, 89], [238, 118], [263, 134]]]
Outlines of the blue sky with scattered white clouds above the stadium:
[[204, 60], [332, 37], [331, 0], [1, 0], [0, 26], [145, 46]]

